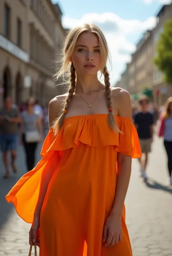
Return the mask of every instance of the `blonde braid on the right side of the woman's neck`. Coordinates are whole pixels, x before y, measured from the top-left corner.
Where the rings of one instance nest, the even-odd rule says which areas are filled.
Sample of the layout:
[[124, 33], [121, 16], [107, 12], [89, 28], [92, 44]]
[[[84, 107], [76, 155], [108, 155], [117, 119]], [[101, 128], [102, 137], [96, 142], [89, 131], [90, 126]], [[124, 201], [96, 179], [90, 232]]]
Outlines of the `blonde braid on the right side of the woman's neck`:
[[103, 75], [105, 77], [106, 99], [107, 99], [107, 106], [109, 110], [108, 125], [111, 127], [111, 129], [119, 131], [119, 128], [115, 122], [114, 114], [112, 111], [110, 111], [112, 109], [112, 99], [111, 99], [109, 72], [106, 66], [103, 69]]

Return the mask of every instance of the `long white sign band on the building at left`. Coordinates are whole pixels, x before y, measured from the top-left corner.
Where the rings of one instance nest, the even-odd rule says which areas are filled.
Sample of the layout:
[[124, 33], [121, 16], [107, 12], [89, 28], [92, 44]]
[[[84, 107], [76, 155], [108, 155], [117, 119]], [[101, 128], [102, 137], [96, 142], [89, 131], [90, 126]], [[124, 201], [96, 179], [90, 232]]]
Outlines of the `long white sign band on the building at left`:
[[15, 44], [10, 42], [7, 38], [0, 34], [0, 47], [7, 50], [9, 53], [13, 54], [20, 60], [24, 62], [29, 62], [29, 54], [21, 50]]

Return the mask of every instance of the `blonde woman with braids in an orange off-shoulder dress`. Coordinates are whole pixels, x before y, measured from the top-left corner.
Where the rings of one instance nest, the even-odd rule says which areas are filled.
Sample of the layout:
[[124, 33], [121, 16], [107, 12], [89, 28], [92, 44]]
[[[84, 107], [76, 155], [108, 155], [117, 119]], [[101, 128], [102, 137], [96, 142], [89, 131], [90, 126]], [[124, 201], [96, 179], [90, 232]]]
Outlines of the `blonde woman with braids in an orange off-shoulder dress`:
[[42, 160], [6, 196], [32, 223], [30, 243], [40, 228], [40, 256], [132, 255], [124, 199], [131, 157], [141, 157], [141, 150], [130, 95], [110, 88], [107, 58], [97, 26], [69, 32], [57, 75], [70, 68], [69, 92], [49, 103], [51, 128]]

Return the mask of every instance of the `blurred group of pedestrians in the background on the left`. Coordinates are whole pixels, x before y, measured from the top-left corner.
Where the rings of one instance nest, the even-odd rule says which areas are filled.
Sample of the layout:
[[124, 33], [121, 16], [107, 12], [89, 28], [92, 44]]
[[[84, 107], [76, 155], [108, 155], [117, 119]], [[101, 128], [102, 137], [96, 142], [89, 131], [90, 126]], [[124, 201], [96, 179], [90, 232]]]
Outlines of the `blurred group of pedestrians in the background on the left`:
[[[10, 97], [5, 98], [4, 106], [0, 110], [0, 148], [5, 167], [3, 178], [9, 178], [10, 168], [8, 152], [11, 154], [11, 168], [17, 173], [15, 163], [17, 157], [17, 145], [24, 147], [27, 171], [33, 169], [35, 163], [36, 147], [43, 142], [48, 127], [48, 107], [42, 107], [33, 98], [20, 106], [13, 104]], [[46, 124], [46, 125], [45, 125]]]

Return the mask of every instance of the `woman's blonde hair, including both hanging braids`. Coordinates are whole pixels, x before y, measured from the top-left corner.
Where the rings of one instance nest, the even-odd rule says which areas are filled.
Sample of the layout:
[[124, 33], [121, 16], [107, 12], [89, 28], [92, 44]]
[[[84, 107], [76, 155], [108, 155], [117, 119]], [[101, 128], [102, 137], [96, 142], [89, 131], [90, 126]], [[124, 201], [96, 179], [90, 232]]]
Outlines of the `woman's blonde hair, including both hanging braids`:
[[[110, 55], [108, 46], [107, 46], [107, 41], [101, 29], [99, 29], [96, 25], [85, 24], [72, 29], [67, 35], [64, 43], [63, 52], [62, 52], [63, 56], [61, 59], [61, 68], [56, 74], [56, 79], [58, 79], [60, 76], [64, 76], [64, 74], [66, 73], [66, 70], [69, 69], [69, 66], [70, 66], [70, 85], [69, 85], [66, 101], [64, 102], [64, 112], [66, 112], [69, 109], [70, 101], [73, 96], [74, 90], [76, 88], [76, 70], [74, 68], [73, 62], [70, 65], [70, 59], [74, 51], [75, 44], [77, 42], [78, 37], [84, 32], [94, 33], [99, 39], [99, 46], [101, 49], [101, 57], [102, 57], [102, 66], [101, 66], [100, 72], [105, 77], [107, 106], [108, 106], [108, 109], [111, 110], [112, 108], [111, 89], [110, 89], [110, 81], [109, 81], [109, 72], [106, 67], [106, 62]], [[53, 122], [53, 130], [55, 134], [57, 133], [58, 130], [62, 128], [64, 119], [65, 119], [65, 113], [62, 113], [60, 117], [58, 117]], [[108, 125], [111, 127], [111, 129], [119, 131], [112, 111], [109, 111]]]

